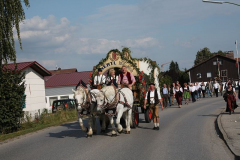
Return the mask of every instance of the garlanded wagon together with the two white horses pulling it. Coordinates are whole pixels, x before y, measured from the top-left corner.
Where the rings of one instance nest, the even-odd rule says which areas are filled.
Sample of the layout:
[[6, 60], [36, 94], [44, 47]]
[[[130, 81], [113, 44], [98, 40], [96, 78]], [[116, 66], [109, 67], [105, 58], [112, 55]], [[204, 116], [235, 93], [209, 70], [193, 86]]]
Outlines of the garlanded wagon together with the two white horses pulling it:
[[[149, 109], [144, 110], [143, 104], [146, 92], [148, 90], [148, 83], [150, 73], [145, 74], [143, 71], [140, 71], [140, 61], [134, 60], [131, 56], [124, 51], [120, 53], [118, 50], [111, 50], [105, 59], [102, 59], [100, 63], [94, 67], [93, 72], [90, 75], [89, 84], [91, 89], [84, 88], [82, 85], [80, 87], [76, 87], [74, 92], [75, 99], [77, 102], [77, 108], [79, 110], [79, 123], [82, 130], [86, 129], [83, 127], [81, 116], [83, 113], [87, 113], [90, 117], [89, 120], [89, 132], [88, 135], [91, 136], [94, 132], [91, 128], [91, 125], [95, 123], [95, 116], [102, 115], [102, 123], [105, 122], [105, 115], [108, 116], [110, 120], [110, 124], [113, 128], [112, 135], [115, 136], [117, 133], [115, 132], [115, 124], [114, 117], [116, 118], [117, 131], [121, 133], [123, 128], [126, 127], [126, 133], [130, 133], [131, 128], [136, 128], [139, 125], [139, 114], [144, 113], [145, 122], [149, 123], [152, 119], [152, 114]], [[149, 63], [141, 62], [142, 68], [147, 67]], [[98, 74], [98, 69], [101, 68], [103, 70], [103, 74], [108, 76], [109, 70], [114, 69], [116, 71], [116, 75], [119, 75], [119, 71], [122, 66], [126, 66], [128, 72], [131, 72], [135, 79], [136, 83], [132, 86], [132, 90], [122, 86], [106, 86], [101, 84], [100, 86], [96, 86], [93, 84], [94, 77]], [[156, 76], [158, 74], [155, 73], [154, 67], [152, 67], [151, 77]], [[157, 70], [159, 71], [159, 70]], [[82, 94], [81, 98], [76, 98], [79, 96], [78, 94]], [[93, 109], [94, 108], [94, 109]], [[89, 110], [90, 112], [83, 112], [83, 110]], [[95, 111], [93, 111], [95, 110]], [[104, 115], [104, 116], [103, 116]], [[108, 124], [107, 124], [108, 126]], [[102, 130], [105, 130], [107, 126], [102, 126]]]

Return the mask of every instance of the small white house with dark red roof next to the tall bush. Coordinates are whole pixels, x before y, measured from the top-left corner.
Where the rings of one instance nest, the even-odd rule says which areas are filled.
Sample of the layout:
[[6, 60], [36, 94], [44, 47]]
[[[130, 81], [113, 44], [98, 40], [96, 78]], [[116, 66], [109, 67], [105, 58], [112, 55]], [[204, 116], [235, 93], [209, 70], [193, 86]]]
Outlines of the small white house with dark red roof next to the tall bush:
[[[14, 69], [14, 64], [8, 64], [7, 68]], [[46, 108], [44, 76], [51, 73], [38, 62], [17, 63], [17, 69], [25, 72], [26, 103], [23, 111], [34, 117], [41, 114]]]

